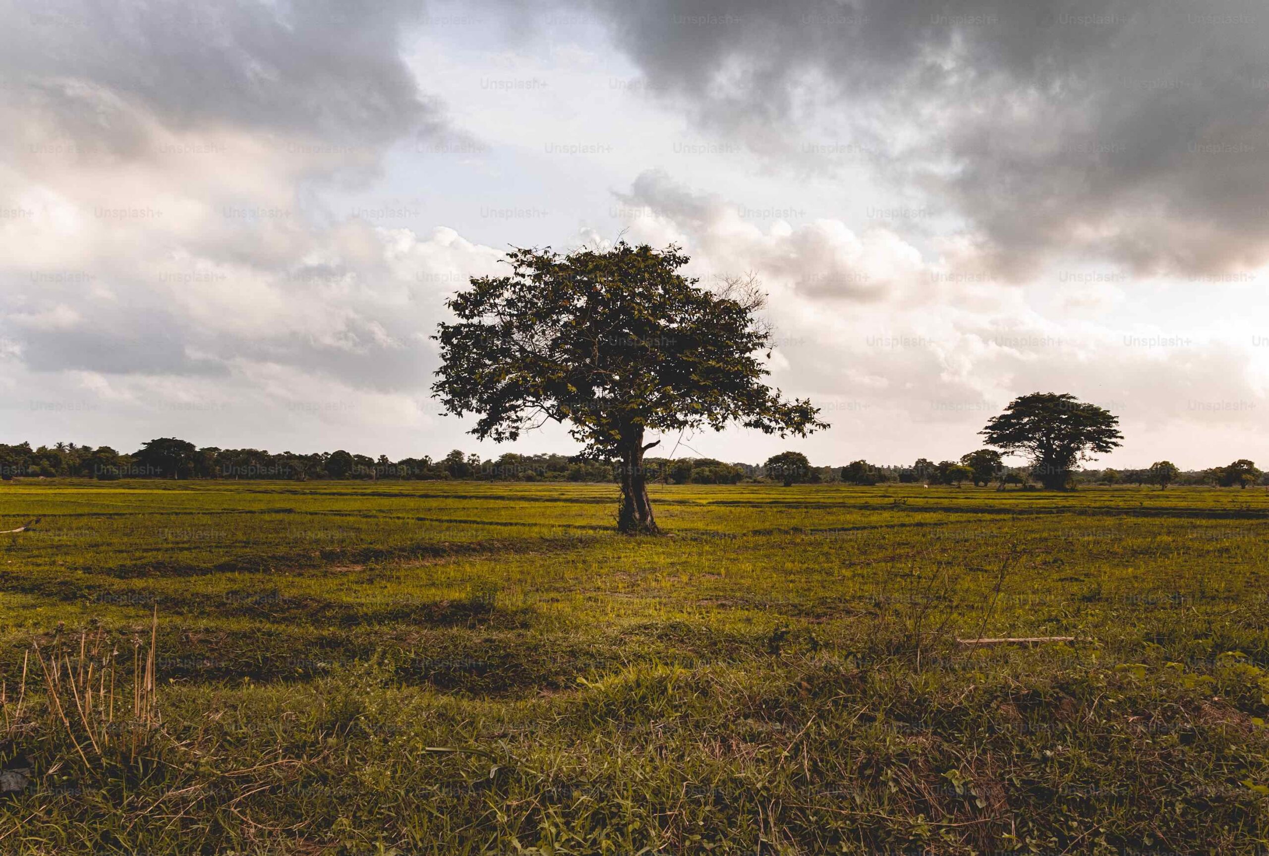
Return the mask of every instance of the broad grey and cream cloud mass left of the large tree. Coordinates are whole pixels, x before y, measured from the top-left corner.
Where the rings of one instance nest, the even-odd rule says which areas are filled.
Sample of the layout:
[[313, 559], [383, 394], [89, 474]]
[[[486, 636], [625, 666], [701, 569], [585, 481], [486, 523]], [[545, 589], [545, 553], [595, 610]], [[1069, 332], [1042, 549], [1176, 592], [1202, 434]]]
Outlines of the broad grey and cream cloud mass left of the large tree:
[[419, 14], [6, 10], [0, 382], [18, 431], [430, 418], [420, 380], [442, 295], [497, 254], [321, 198], [373, 179], [397, 141], [447, 133], [400, 56]]

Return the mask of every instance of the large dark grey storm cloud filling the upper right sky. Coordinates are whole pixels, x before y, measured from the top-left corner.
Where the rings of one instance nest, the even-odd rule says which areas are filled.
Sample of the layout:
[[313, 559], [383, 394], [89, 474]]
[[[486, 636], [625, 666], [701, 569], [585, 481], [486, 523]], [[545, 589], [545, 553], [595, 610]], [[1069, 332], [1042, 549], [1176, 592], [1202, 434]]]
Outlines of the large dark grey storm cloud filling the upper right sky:
[[1269, 8], [1254, 0], [600, 1], [648, 88], [792, 157], [883, 141], [1024, 274], [1057, 251], [1206, 274], [1269, 256]]

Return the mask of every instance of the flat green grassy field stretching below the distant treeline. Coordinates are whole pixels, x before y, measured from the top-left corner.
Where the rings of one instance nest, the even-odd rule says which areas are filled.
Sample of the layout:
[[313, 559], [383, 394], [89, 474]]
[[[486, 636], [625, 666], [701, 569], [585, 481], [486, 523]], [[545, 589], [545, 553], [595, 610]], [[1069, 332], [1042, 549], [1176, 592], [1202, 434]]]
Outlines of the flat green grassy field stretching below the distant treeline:
[[1269, 493], [614, 495], [0, 486], [0, 852], [1269, 845]]

